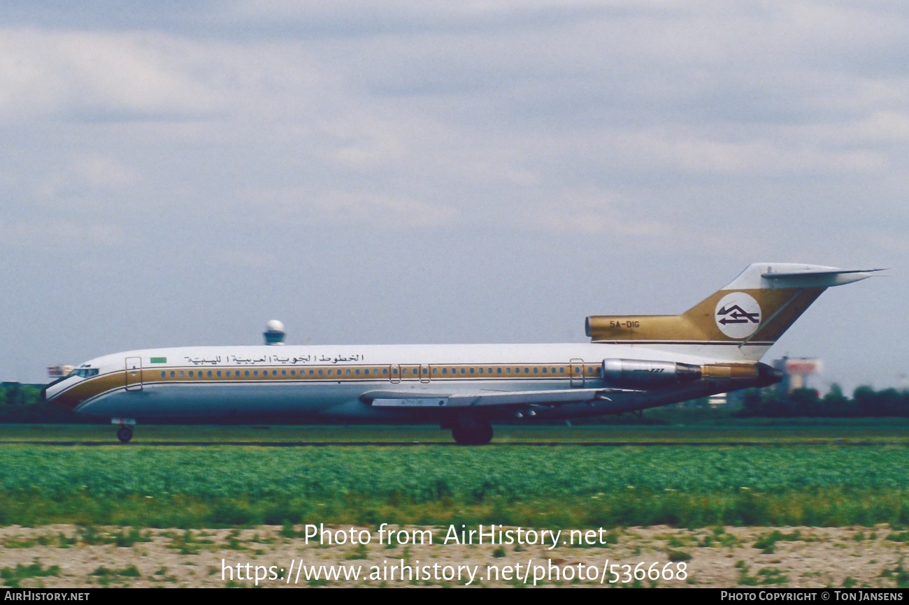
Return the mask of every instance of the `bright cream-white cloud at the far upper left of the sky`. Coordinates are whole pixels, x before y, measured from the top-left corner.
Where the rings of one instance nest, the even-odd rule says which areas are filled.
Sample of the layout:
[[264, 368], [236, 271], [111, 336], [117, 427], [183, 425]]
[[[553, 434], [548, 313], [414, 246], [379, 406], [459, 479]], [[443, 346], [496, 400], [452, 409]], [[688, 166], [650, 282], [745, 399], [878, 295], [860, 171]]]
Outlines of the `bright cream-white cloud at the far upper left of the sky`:
[[[166, 35], [0, 29], [0, 116], [88, 120], [210, 114], [205, 74], [185, 57], [199, 45]], [[187, 69], [189, 67], [190, 69]]]

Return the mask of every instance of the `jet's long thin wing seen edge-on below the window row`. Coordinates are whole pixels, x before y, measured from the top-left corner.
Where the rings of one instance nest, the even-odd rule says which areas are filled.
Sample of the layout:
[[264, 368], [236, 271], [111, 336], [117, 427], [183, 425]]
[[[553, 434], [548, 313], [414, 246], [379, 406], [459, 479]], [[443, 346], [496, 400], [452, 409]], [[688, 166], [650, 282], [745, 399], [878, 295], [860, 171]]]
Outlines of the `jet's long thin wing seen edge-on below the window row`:
[[381, 408], [467, 408], [487, 406], [558, 406], [608, 400], [609, 393], [633, 389], [562, 389], [559, 391], [481, 391], [430, 393], [420, 391], [370, 391], [360, 399]]

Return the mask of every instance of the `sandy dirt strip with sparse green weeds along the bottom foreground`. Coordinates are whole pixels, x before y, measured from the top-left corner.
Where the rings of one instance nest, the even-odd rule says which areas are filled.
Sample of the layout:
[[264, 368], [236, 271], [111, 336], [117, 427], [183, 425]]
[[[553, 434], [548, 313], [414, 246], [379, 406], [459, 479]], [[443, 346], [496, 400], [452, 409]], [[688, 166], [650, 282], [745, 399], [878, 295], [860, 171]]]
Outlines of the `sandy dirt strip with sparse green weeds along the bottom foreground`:
[[[368, 544], [351, 544], [350, 527], [332, 528], [347, 543], [328, 545], [317, 538], [307, 543], [301, 525], [192, 531], [10, 526], [0, 528], [0, 582], [24, 588], [225, 587], [253, 586], [258, 574], [266, 587], [909, 585], [909, 532], [885, 525], [564, 531], [554, 548], [552, 535], [545, 545], [542, 536], [528, 543], [528, 535], [522, 544], [490, 544], [488, 537], [478, 544], [474, 536], [474, 544], [464, 545], [442, 543], [448, 527], [393, 529], [406, 531], [400, 535], [408, 543], [380, 544], [376, 528], [353, 528], [360, 541], [369, 535]], [[419, 543], [421, 534], [415, 534], [426, 530], [431, 544]], [[518, 537], [516, 528], [499, 530]], [[422, 538], [426, 542], [428, 535]], [[594, 545], [572, 546], [572, 538]]]

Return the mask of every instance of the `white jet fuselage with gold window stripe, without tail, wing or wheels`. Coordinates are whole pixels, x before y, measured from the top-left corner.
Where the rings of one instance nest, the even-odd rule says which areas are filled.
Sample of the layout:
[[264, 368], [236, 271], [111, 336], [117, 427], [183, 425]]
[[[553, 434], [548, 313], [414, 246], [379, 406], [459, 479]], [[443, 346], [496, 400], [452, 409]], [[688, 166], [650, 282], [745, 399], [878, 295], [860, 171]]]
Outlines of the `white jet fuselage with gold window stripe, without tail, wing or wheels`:
[[[602, 363], [609, 358], [716, 361], [677, 350], [599, 343], [186, 347], [96, 358], [49, 385], [45, 397], [75, 412], [140, 421], [231, 416], [435, 419], [445, 411], [380, 409], [365, 402], [364, 395], [382, 390], [437, 396], [606, 388], [614, 386], [602, 373]], [[744, 386], [750, 384], [735, 388]], [[538, 412], [550, 417], [625, 412], [729, 388], [699, 381], [634, 389]], [[484, 413], [511, 417], [514, 407]]]

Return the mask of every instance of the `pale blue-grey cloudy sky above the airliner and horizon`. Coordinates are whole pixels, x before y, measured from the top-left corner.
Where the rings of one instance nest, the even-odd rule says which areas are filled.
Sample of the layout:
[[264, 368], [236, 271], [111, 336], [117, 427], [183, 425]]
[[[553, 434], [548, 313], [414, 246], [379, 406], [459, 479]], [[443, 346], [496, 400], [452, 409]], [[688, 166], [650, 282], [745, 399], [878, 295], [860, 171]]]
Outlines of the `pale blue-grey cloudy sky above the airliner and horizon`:
[[909, 5], [17, 2], [0, 379], [109, 352], [585, 342], [749, 263], [889, 267], [765, 359], [909, 374]]

